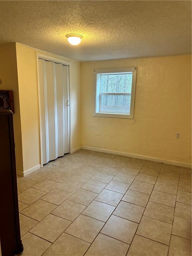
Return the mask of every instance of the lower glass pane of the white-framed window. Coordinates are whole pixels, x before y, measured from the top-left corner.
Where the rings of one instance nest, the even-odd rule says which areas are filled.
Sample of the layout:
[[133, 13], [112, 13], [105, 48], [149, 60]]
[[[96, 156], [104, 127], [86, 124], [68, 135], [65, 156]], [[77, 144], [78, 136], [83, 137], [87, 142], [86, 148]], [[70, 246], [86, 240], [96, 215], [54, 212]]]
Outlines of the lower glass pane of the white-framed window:
[[131, 95], [101, 95], [100, 111], [130, 113]]

